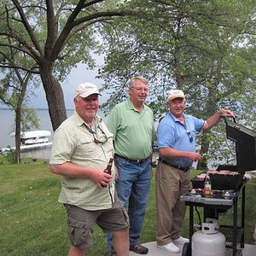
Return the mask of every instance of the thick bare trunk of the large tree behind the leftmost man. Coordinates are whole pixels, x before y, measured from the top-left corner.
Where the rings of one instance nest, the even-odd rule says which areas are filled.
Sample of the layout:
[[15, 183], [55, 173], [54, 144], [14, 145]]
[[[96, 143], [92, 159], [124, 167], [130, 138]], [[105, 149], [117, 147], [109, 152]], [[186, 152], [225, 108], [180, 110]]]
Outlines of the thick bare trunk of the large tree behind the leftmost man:
[[55, 79], [49, 68], [40, 67], [40, 75], [48, 102], [49, 118], [53, 131], [55, 131], [67, 119], [63, 91], [61, 84]]

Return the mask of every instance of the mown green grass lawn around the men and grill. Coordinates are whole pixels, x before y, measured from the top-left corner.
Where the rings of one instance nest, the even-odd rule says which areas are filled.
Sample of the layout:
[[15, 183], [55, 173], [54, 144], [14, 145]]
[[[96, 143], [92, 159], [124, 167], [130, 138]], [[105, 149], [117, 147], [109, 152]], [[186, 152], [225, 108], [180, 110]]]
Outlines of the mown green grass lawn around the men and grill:
[[[245, 241], [248, 244], [253, 244], [255, 186], [256, 179], [247, 183]], [[51, 174], [43, 162], [0, 165], [0, 255], [67, 255], [70, 244], [66, 211], [57, 201], [60, 189], [60, 177]], [[183, 236], [189, 236], [188, 213]], [[155, 241], [155, 216], [153, 177], [142, 243]], [[219, 221], [229, 224], [230, 216], [231, 210], [220, 216]], [[107, 252], [106, 234], [96, 227], [94, 246], [88, 255], [107, 255]]]

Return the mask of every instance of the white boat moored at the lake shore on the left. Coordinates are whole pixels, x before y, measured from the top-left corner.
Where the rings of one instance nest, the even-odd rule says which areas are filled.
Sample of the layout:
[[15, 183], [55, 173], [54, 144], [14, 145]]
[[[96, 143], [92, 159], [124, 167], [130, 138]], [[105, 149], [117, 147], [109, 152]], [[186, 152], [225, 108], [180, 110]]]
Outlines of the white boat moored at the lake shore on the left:
[[[15, 132], [12, 132], [10, 136], [15, 137]], [[20, 151], [51, 147], [52, 142], [49, 142], [50, 136], [50, 131], [22, 131], [20, 133]], [[1, 148], [1, 151], [4, 154], [8, 153], [11, 149], [15, 150], [15, 147]]]

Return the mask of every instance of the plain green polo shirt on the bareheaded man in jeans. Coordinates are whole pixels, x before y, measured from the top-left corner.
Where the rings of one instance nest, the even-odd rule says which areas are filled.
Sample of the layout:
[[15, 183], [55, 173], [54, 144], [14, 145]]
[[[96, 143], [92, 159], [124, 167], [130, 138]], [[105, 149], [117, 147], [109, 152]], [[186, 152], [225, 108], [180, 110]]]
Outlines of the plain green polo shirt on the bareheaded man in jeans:
[[116, 154], [131, 160], [145, 159], [152, 153], [154, 114], [143, 105], [139, 113], [130, 100], [116, 105], [108, 116], [108, 130], [113, 133]]

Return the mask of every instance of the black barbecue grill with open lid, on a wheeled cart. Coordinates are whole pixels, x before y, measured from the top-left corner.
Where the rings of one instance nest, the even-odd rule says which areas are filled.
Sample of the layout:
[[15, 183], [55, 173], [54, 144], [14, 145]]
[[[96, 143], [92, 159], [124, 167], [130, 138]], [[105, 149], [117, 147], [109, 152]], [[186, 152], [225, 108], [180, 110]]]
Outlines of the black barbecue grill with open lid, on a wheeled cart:
[[[236, 119], [223, 115], [222, 118], [226, 125], [226, 136], [236, 143], [236, 166], [221, 165], [216, 171], [231, 171], [234, 175], [210, 174], [212, 189], [217, 189], [218, 193], [213, 192], [212, 197], [204, 197], [203, 193], [196, 190], [180, 196], [182, 201], [189, 206], [189, 243], [183, 246], [183, 256], [191, 255], [191, 239], [194, 233], [194, 207], [204, 207], [204, 220], [206, 218], [217, 218], [218, 213], [232, 208], [233, 222], [232, 226], [220, 226], [220, 230], [226, 236], [227, 245], [231, 247], [233, 256], [241, 255], [241, 249], [237, 249], [237, 241], [240, 247], [244, 247], [244, 226], [245, 226], [245, 187], [246, 178], [244, 174], [247, 171], [256, 170], [256, 131], [248, 129], [243, 125], [236, 123]], [[235, 175], [236, 172], [236, 175]], [[237, 173], [238, 172], [238, 173]], [[204, 180], [197, 177], [191, 179], [193, 189], [202, 189]], [[224, 196], [225, 191], [231, 191], [230, 196]], [[219, 191], [222, 193], [219, 194]], [[241, 193], [241, 220], [238, 225], [237, 202]], [[228, 235], [229, 233], [229, 235]], [[230, 236], [231, 234], [231, 236]], [[227, 236], [230, 236], [229, 238]], [[229, 241], [230, 239], [230, 241]]]

